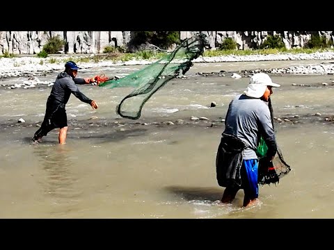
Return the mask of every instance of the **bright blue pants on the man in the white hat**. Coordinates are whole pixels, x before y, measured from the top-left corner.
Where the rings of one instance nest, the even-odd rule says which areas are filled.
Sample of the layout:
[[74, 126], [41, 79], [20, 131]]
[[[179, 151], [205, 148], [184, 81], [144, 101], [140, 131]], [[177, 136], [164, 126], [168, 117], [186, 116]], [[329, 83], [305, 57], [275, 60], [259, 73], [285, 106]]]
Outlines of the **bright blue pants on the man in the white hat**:
[[245, 196], [249, 199], [259, 197], [259, 185], [257, 184], [257, 159], [243, 160], [241, 166], [241, 180]]

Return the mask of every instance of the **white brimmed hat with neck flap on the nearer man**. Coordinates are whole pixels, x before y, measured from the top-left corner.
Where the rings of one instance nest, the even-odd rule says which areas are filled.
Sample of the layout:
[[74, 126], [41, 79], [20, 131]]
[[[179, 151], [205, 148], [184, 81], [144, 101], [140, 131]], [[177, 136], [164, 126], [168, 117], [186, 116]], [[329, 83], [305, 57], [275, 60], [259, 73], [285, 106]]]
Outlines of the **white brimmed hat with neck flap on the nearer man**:
[[250, 77], [247, 89], [244, 91], [248, 97], [260, 98], [267, 89], [267, 86], [280, 87], [279, 84], [273, 83], [268, 74], [257, 73]]

